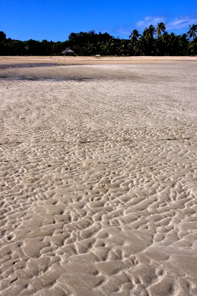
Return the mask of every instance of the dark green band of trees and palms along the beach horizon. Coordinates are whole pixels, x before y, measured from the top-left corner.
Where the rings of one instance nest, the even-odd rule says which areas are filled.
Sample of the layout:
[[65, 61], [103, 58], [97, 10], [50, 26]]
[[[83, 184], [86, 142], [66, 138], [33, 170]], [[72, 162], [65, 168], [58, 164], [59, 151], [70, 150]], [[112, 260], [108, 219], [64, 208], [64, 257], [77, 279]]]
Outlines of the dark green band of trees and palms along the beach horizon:
[[133, 30], [130, 39], [120, 39], [108, 33], [96, 34], [95, 31], [71, 33], [68, 40], [61, 42], [20, 41], [6, 38], [0, 32], [0, 55], [55, 56], [69, 47], [79, 56], [91, 55], [132, 55], [132, 56], [184, 56], [197, 55], [197, 25], [192, 25], [187, 34], [175, 35], [165, 31], [164, 23], [157, 28], [150, 25], [142, 35]]

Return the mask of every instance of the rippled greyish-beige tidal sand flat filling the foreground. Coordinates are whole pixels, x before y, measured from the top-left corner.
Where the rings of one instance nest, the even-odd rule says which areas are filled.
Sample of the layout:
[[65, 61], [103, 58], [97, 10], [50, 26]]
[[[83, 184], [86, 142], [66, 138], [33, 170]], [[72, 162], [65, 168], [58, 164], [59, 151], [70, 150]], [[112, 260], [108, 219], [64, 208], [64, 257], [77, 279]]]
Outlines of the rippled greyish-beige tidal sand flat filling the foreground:
[[0, 77], [1, 295], [196, 296], [197, 61]]

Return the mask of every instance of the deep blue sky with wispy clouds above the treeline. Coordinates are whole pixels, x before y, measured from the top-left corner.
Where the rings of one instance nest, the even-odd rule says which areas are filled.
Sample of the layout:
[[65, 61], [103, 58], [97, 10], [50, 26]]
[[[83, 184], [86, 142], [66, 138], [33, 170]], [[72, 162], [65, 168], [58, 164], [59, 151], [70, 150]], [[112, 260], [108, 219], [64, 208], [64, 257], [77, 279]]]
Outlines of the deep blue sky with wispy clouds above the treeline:
[[128, 38], [164, 22], [168, 33], [197, 24], [196, 0], [0, 0], [0, 31], [7, 38], [64, 41], [71, 32]]

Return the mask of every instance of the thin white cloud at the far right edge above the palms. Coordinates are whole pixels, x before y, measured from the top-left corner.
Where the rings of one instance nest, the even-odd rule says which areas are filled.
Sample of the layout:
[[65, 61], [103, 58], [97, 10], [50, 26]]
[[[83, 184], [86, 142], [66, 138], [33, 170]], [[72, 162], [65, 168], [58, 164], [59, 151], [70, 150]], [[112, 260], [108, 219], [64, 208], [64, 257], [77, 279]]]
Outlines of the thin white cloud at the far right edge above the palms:
[[189, 25], [197, 24], [197, 16], [185, 15], [175, 18], [173, 21], [166, 23], [167, 30], [178, 30], [189, 28]]

